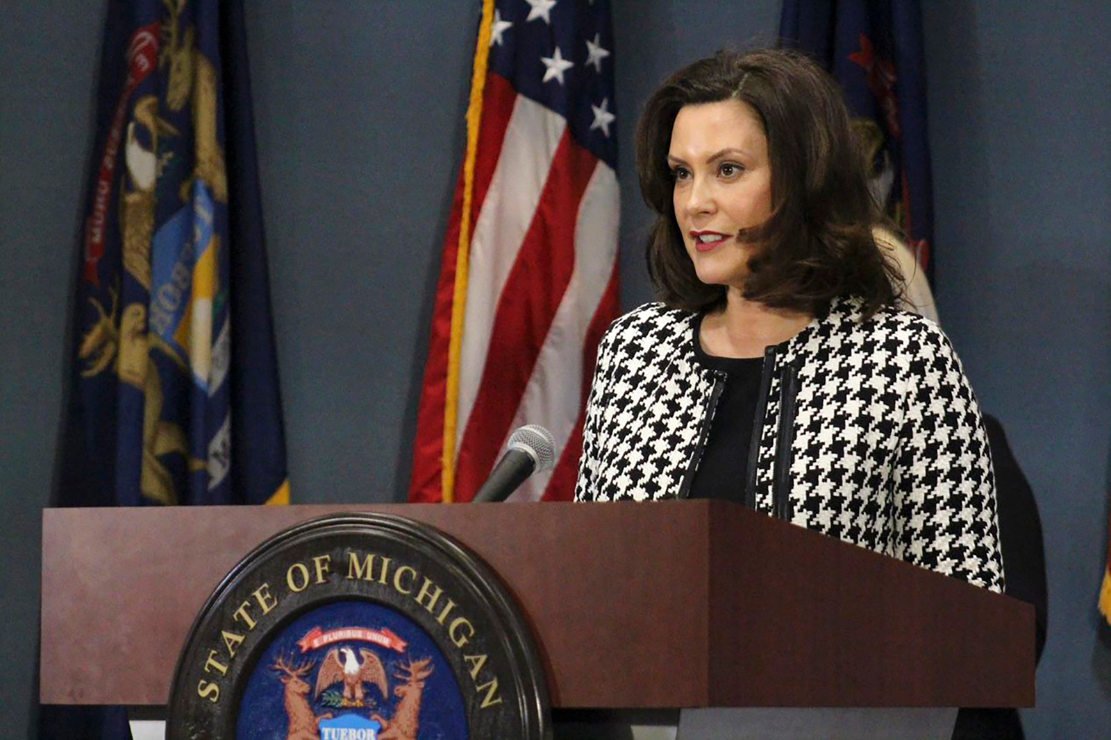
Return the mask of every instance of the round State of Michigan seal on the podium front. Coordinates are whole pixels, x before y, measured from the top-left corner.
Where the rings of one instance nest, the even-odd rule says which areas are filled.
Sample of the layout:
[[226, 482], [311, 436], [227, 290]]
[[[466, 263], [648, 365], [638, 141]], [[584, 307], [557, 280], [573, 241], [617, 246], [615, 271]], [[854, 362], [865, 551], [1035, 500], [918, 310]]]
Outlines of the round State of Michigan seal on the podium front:
[[427, 525], [342, 514], [251, 551], [189, 632], [169, 740], [540, 740], [543, 665], [493, 571]]

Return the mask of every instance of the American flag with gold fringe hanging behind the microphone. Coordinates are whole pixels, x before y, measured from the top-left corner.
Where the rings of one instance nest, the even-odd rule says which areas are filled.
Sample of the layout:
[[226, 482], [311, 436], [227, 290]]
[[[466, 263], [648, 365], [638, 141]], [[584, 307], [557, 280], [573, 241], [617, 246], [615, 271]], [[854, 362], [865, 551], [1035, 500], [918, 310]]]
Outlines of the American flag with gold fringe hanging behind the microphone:
[[469, 500], [522, 424], [551, 430], [558, 462], [514, 497], [573, 495], [618, 310], [614, 115], [608, 0], [484, 2], [410, 500]]

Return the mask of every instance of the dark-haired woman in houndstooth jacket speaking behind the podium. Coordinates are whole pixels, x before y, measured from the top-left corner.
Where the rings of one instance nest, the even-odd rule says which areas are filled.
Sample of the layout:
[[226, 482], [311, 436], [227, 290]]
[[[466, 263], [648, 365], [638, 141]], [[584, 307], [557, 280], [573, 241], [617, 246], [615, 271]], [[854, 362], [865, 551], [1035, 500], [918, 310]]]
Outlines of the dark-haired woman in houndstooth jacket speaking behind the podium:
[[1002, 590], [980, 410], [895, 307], [835, 83], [792, 52], [694, 62], [649, 100], [637, 168], [662, 303], [602, 339], [575, 498], [728, 498]]

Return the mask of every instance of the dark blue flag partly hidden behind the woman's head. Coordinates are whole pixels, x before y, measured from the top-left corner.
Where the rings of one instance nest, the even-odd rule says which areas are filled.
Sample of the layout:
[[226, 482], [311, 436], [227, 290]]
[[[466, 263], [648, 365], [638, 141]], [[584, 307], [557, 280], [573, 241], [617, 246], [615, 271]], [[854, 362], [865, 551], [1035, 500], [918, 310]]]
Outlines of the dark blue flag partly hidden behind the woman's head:
[[783, 0], [782, 43], [844, 90], [872, 162], [871, 186], [933, 284], [933, 196], [918, 0]]

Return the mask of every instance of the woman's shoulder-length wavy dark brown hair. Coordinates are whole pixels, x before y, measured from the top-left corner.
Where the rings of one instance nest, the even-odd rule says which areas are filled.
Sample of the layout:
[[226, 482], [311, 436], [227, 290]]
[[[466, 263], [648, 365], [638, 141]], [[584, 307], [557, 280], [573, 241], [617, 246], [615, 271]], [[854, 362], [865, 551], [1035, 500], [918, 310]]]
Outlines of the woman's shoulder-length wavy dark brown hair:
[[821, 312], [841, 295], [864, 314], [894, 303], [902, 277], [872, 236], [880, 214], [837, 83], [794, 51], [720, 51], [684, 67], [649, 99], [637, 125], [641, 193], [659, 214], [648, 271], [659, 297], [688, 311], [723, 307], [725, 287], [699, 281], [675, 223], [668, 165], [671, 130], [684, 105], [739, 100], [768, 138], [772, 215], [749, 230], [759, 244], [744, 297], [768, 306]]

